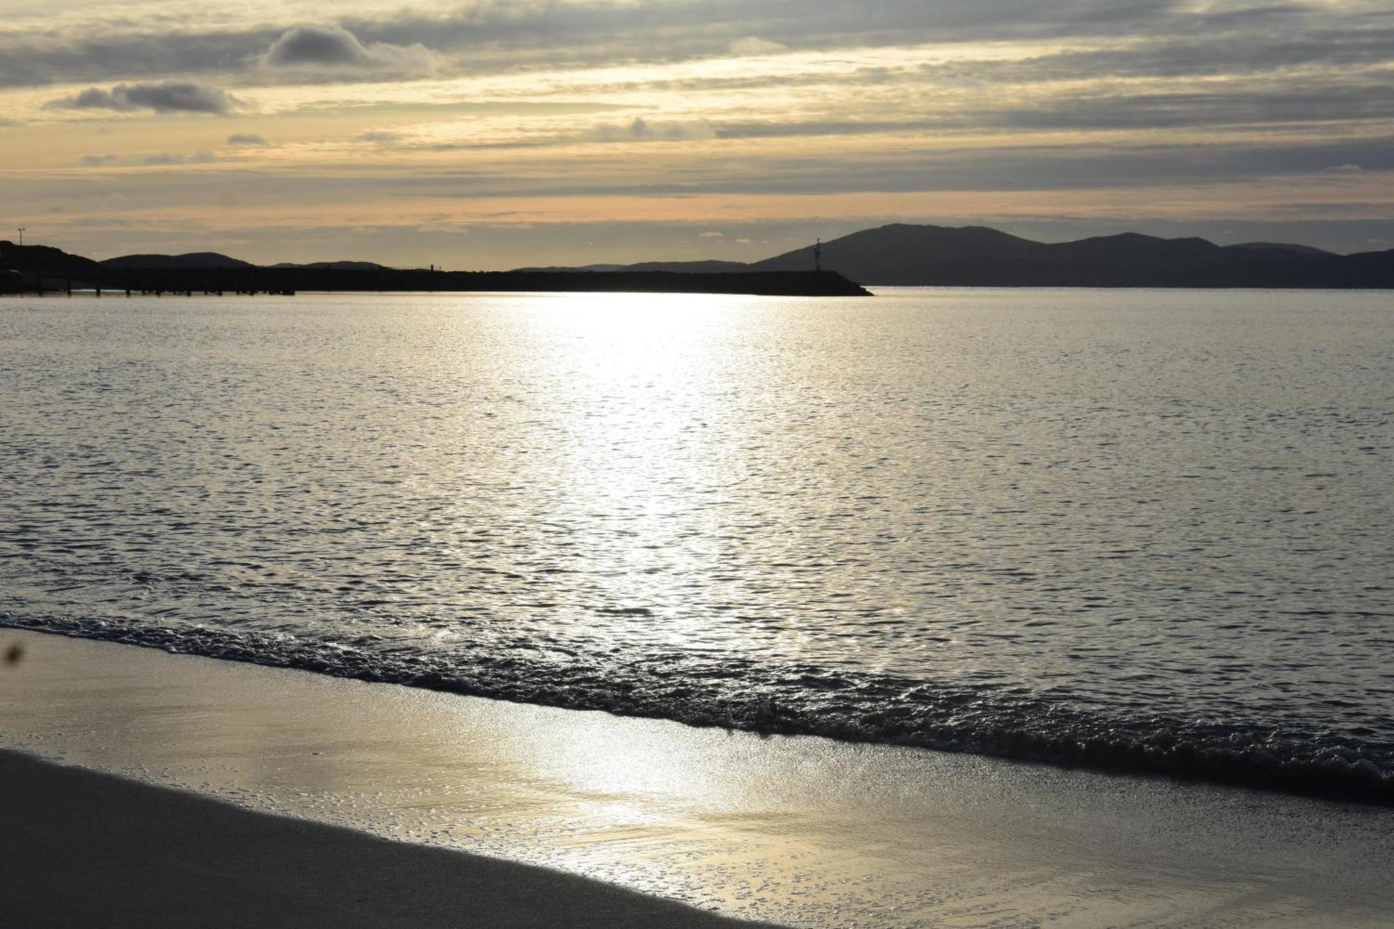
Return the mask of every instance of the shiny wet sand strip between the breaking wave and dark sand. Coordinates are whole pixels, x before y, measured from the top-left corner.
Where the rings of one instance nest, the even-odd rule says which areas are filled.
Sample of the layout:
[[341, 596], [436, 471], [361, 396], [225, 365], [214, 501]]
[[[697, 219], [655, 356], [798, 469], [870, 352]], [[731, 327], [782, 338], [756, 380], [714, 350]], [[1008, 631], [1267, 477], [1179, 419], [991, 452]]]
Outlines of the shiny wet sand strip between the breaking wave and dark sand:
[[[24, 660], [0, 668], [7, 748], [728, 916], [1377, 926], [1394, 914], [1380, 879], [1394, 815], [1380, 808], [0, 635], [15, 640]], [[81, 861], [72, 836], [53, 843]]]

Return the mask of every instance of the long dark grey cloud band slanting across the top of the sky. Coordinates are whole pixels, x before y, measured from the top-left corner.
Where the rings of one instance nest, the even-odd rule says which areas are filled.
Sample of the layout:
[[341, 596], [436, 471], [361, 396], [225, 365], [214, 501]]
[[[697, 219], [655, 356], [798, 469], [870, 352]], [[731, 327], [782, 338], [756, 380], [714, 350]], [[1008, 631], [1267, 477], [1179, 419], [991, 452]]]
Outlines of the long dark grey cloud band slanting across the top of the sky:
[[[1299, 54], [1388, 60], [1388, 28], [1340, 8], [1270, 4], [1221, 14], [1195, 13], [1181, 0], [1055, 0], [1023, 10], [1019, 0], [502, 0], [431, 15], [404, 10], [344, 18], [337, 25], [258, 25], [247, 29], [149, 32], [130, 21], [67, 39], [52, 32], [0, 35], [0, 86], [99, 81], [167, 74], [280, 68], [354, 68], [367, 74], [453, 67], [466, 73], [549, 66], [675, 61], [703, 56], [990, 39], [1136, 36], [1128, 56], [1154, 43], [1252, 49], [1296, 42]], [[753, 38], [758, 36], [758, 39]], [[427, 47], [429, 46], [429, 47]], [[1383, 50], [1381, 50], [1383, 47]], [[1323, 52], [1324, 49], [1324, 52]], [[1125, 56], [1125, 57], [1128, 57]], [[1383, 56], [1383, 57], [1380, 57]], [[1182, 66], [1184, 67], [1184, 66]], [[1197, 63], [1196, 67], [1203, 67]]]

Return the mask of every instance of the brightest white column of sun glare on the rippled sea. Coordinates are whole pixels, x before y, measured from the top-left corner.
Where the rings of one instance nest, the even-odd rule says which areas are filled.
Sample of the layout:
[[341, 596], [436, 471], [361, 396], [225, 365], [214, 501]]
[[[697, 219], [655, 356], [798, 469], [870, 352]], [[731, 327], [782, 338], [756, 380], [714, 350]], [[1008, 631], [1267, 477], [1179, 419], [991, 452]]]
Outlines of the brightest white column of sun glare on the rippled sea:
[[[774, 301], [694, 294], [583, 294], [533, 307], [545, 345], [548, 391], [535, 392], [537, 428], [552, 432], [559, 513], [584, 515], [576, 550], [588, 559], [590, 603], [606, 617], [648, 624], [673, 646], [700, 646], [700, 617], [669, 610], [684, 589], [722, 593], [733, 518], [725, 488], [747, 478], [733, 430], [732, 340], [739, 317]], [[537, 346], [534, 345], [534, 349]], [[562, 441], [555, 441], [556, 434]], [[535, 463], [537, 464], [537, 463]], [[658, 619], [655, 622], [655, 618]]]

